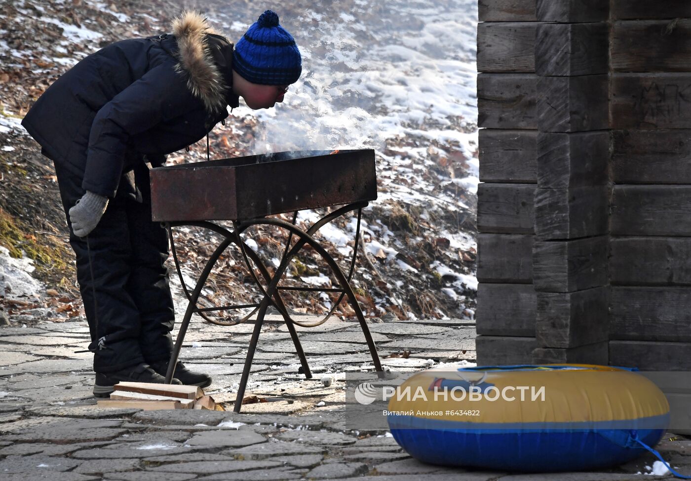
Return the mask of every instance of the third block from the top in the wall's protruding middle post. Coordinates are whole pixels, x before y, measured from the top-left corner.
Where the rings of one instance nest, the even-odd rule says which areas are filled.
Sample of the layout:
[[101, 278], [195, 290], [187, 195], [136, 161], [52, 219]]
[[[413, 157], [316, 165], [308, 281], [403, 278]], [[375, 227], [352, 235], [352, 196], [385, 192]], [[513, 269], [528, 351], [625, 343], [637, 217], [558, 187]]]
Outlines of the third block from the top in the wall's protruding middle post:
[[540, 77], [537, 115], [541, 132], [607, 129], [607, 75]]

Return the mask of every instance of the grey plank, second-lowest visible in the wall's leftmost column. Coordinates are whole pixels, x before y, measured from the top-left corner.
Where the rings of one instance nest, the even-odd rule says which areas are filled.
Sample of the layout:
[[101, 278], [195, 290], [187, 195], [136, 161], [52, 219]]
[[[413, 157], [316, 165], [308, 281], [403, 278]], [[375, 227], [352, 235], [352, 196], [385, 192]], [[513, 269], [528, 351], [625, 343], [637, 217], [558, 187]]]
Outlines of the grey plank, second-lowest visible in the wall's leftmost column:
[[532, 284], [477, 286], [477, 334], [535, 337], [537, 294]]

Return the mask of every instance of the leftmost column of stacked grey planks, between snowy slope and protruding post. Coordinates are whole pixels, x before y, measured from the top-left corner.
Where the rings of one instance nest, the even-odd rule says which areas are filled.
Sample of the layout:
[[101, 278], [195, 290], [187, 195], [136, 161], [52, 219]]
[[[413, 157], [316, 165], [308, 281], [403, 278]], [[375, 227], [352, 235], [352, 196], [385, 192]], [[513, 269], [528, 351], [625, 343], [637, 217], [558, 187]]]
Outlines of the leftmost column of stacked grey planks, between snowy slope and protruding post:
[[477, 359], [524, 364], [536, 348], [536, 0], [479, 0]]

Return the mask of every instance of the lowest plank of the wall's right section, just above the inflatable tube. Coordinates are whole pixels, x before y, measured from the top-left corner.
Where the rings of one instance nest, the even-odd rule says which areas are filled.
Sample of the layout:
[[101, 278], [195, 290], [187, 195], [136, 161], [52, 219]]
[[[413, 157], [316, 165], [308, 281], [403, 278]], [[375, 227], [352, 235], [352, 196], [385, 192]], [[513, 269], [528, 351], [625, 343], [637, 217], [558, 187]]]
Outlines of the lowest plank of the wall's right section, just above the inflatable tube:
[[691, 343], [609, 341], [609, 364], [641, 370], [691, 370]]

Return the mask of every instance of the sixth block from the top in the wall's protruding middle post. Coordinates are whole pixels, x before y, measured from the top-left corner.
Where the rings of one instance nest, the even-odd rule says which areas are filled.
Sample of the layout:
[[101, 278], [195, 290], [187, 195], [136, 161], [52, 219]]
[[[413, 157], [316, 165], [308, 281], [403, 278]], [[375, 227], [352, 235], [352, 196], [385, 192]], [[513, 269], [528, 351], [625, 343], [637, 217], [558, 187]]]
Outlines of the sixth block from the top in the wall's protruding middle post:
[[538, 292], [576, 292], [607, 285], [607, 236], [536, 241], [533, 284]]

